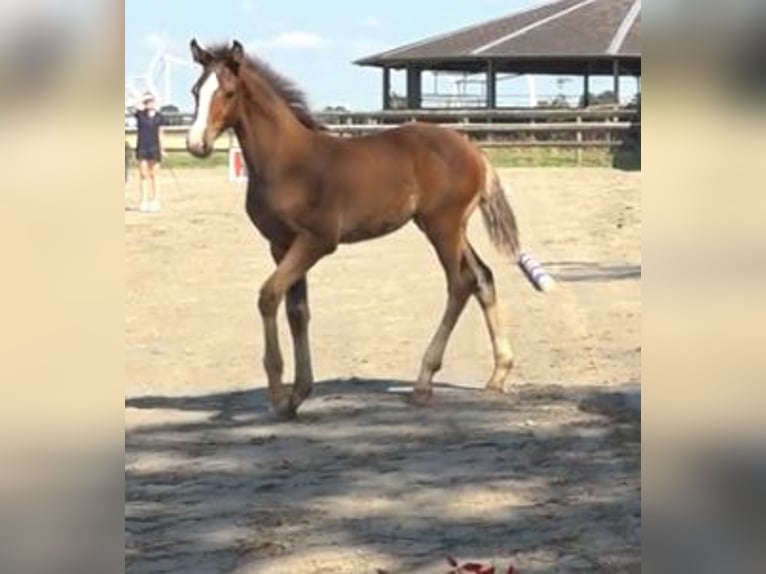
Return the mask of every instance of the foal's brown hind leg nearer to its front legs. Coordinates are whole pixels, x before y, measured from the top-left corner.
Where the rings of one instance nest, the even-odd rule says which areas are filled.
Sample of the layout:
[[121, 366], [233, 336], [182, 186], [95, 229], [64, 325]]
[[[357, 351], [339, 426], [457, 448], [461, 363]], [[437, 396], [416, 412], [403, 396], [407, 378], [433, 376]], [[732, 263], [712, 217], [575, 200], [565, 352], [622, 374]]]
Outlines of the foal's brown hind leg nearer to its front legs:
[[465, 236], [462, 226], [456, 225], [443, 232], [434, 231], [428, 227], [423, 229], [436, 249], [447, 277], [447, 306], [439, 327], [423, 356], [420, 375], [415, 383], [412, 397], [416, 404], [424, 404], [431, 397], [433, 392], [431, 382], [434, 374], [441, 368], [449, 337], [475, 288], [473, 273], [467, 267], [463, 257]]

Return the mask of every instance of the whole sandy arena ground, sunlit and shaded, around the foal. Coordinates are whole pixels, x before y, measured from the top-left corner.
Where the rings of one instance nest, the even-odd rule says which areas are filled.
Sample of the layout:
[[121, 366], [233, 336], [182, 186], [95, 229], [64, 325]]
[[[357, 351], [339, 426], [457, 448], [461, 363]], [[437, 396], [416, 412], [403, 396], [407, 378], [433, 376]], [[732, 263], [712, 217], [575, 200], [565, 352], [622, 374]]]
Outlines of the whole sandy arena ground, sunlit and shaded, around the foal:
[[[640, 571], [640, 173], [501, 170], [522, 242], [558, 279], [534, 291], [493, 250], [513, 391], [479, 391], [476, 303], [433, 404], [404, 401], [445, 288], [412, 225], [311, 271], [317, 383], [270, 415], [255, 299], [273, 269], [223, 170], [163, 172], [163, 210], [125, 188], [128, 572], [444, 574]], [[281, 338], [290, 376], [286, 321]], [[500, 568], [498, 568], [498, 572]]]

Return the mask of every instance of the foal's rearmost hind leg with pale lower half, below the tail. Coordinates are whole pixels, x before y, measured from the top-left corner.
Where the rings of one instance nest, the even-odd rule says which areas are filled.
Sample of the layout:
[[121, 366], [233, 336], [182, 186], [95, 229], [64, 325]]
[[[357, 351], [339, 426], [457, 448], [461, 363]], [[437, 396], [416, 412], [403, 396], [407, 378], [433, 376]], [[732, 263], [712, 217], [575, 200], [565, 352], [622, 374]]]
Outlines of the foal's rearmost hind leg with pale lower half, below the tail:
[[495, 280], [492, 271], [481, 260], [476, 251], [466, 242], [465, 260], [476, 277], [474, 295], [481, 305], [489, 336], [492, 339], [492, 351], [495, 368], [487, 381], [487, 389], [504, 392], [505, 379], [513, 366], [513, 351], [507, 336], [503, 332], [500, 312], [497, 305]]

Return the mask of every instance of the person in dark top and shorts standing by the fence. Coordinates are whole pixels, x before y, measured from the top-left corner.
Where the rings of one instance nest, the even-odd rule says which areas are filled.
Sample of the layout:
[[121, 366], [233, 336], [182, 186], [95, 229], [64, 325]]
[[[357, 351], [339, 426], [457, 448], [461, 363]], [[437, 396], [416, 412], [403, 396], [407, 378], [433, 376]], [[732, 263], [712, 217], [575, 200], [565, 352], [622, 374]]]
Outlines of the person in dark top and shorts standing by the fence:
[[141, 105], [136, 109], [136, 128], [138, 141], [136, 143], [136, 159], [141, 178], [142, 212], [157, 212], [160, 210], [159, 184], [157, 172], [165, 151], [162, 146], [162, 114], [156, 109], [154, 96], [144, 94]]

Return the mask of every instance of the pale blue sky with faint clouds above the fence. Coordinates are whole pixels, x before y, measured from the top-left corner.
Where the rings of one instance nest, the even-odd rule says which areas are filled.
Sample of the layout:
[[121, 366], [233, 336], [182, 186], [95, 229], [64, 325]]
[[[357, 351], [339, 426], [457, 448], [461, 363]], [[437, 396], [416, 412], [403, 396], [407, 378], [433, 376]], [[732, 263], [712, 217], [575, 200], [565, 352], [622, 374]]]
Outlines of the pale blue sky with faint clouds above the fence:
[[[144, 75], [158, 50], [191, 63], [189, 42], [236, 38], [307, 93], [311, 105], [379, 109], [381, 72], [352, 61], [484, 20], [541, 4], [541, 0], [127, 0], [125, 2], [125, 76]], [[172, 103], [192, 106], [189, 89], [198, 69], [171, 65]], [[579, 93], [578, 81], [564, 91]], [[424, 79], [424, 89], [433, 85]], [[440, 84], [443, 86], [443, 84]], [[501, 87], [508, 94], [527, 92], [525, 81]], [[608, 80], [593, 91], [608, 89]], [[627, 79], [626, 92], [635, 82]], [[161, 74], [156, 87], [162, 96]], [[393, 88], [403, 91], [403, 74]], [[443, 88], [442, 88], [443, 89]], [[558, 91], [552, 79], [538, 83], [540, 97]], [[522, 98], [523, 99], [523, 98]], [[164, 103], [164, 102], [163, 102]]]

